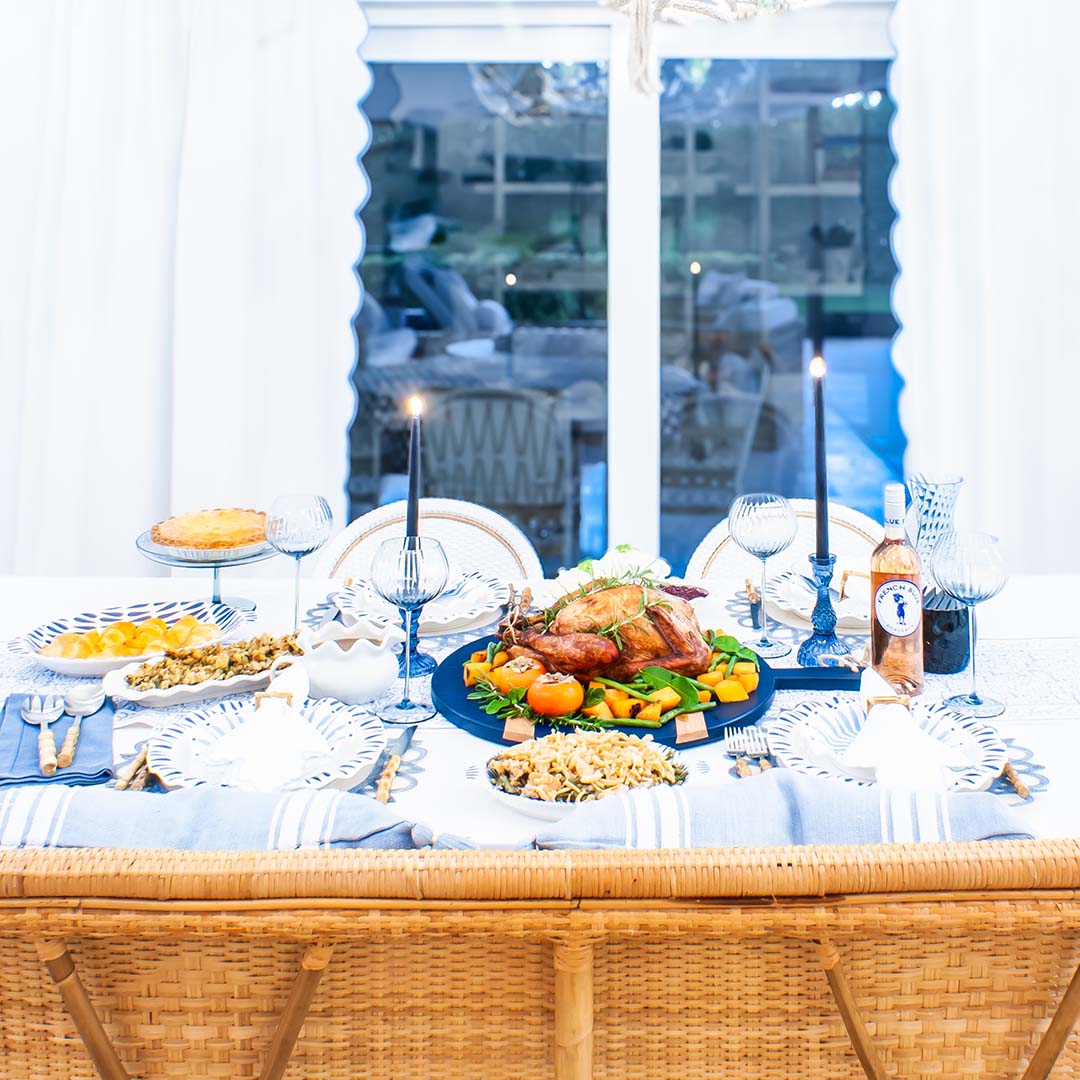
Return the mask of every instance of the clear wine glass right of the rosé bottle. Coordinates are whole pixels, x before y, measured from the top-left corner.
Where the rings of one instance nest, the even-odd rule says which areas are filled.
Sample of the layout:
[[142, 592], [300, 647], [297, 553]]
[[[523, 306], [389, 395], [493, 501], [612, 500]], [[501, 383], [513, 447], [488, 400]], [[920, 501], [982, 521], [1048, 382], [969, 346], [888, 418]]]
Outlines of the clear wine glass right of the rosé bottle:
[[1007, 580], [998, 538], [986, 532], [946, 532], [934, 546], [930, 565], [942, 590], [967, 607], [971, 634], [971, 693], [946, 698], [945, 704], [961, 716], [1000, 716], [1005, 706], [981, 698], [975, 681], [975, 605], [997, 596]]

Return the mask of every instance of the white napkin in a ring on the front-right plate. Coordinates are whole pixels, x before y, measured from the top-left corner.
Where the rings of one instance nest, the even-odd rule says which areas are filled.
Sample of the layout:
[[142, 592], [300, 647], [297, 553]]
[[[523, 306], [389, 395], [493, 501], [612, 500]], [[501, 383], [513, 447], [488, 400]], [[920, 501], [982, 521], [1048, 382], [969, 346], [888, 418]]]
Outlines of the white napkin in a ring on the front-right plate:
[[[894, 697], [896, 691], [877, 672], [867, 669], [859, 688], [863, 708], [870, 698]], [[874, 705], [859, 734], [840, 755], [851, 775], [886, 787], [947, 791], [951, 767], [963, 766], [958, 752], [927, 734], [899, 702]]]

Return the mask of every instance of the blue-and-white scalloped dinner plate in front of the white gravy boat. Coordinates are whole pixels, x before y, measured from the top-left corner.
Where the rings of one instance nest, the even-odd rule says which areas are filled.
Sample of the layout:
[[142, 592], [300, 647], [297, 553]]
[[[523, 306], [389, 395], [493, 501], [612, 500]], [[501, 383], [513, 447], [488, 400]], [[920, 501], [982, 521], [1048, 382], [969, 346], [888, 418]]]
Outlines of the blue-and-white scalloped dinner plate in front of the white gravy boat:
[[[300, 706], [300, 714], [329, 744], [329, 754], [327, 759], [312, 759], [309, 762], [311, 771], [282, 789], [336, 787], [348, 791], [363, 783], [386, 745], [382, 721], [366, 710], [333, 698], [309, 698]], [[232, 699], [174, 720], [150, 742], [150, 771], [166, 787], [235, 786], [228, 783], [227, 768], [215, 759], [214, 747], [254, 715], [254, 702]]]

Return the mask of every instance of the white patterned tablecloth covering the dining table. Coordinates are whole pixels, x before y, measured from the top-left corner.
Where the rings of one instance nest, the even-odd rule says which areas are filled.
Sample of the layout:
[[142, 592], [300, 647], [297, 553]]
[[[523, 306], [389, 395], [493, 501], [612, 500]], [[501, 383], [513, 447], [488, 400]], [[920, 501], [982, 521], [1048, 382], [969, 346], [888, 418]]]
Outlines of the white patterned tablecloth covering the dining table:
[[[257, 569], [257, 568], [256, 568]], [[204, 576], [207, 577], [207, 576]], [[305, 606], [326, 596], [329, 583], [303, 583]], [[0, 642], [6, 642], [50, 618], [95, 610], [140, 599], [198, 598], [207, 583], [183, 578], [0, 578]], [[240, 593], [258, 604], [253, 632], [282, 633], [292, 619], [292, 588], [286, 581], [230, 575], [226, 593]], [[1008, 705], [989, 721], [1007, 740], [1013, 764], [1031, 787], [1022, 802], [1008, 789], [1003, 799], [1017, 807], [1025, 826], [1040, 837], [1080, 835], [1080, 637], [1075, 612], [1080, 610], [1080, 575], [1015, 578], [981, 612], [980, 689]], [[735, 619], [732, 609], [732, 619]], [[728, 625], [737, 634], [745, 627]], [[793, 631], [781, 631], [797, 640]], [[473, 634], [424, 639], [421, 647], [445, 656]], [[773, 663], [794, 663], [794, 657]], [[930, 676], [927, 700], [966, 690], [968, 673]], [[73, 679], [51, 675], [32, 659], [6, 648], [0, 651], [0, 694], [59, 688]], [[777, 694], [770, 716], [806, 697], [801, 691]], [[175, 711], [143, 710], [143, 726], [118, 731], [118, 759], [130, 755], [151, 725]], [[767, 721], [768, 717], [766, 718]], [[494, 746], [436, 718], [420, 727], [394, 787], [394, 804], [403, 814], [477, 843], [512, 846], [527, 841], [539, 823], [503, 808], [485, 791], [485, 783], [467, 772], [484, 761]], [[737, 783], [730, 759], [712, 744], [680, 752], [691, 777], [708, 783]]]

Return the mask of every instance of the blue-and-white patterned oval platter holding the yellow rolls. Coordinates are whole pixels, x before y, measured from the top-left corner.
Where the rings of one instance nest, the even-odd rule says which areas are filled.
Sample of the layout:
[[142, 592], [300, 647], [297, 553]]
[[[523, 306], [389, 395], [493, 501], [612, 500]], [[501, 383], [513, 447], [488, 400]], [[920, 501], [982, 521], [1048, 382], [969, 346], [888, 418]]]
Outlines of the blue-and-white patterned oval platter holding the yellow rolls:
[[29, 652], [42, 667], [48, 667], [58, 675], [99, 678], [102, 675], [125, 667], [130, 663], [141, 663], [150, 657], [160, 657], [164, 650], [153, 649], [138, 657], [87, 657], [83, 660], [45, 657], [41, 654], [40, 650], [60, 634], [85, 634], [89, 630], [103, 630], [114, 622], [137, 624], [147, 619], [161, 619], [166, 625], [172, 626], [178, 619], [188, 615], [194, 616], [200, 622], [217, 624], [220, 633], [212, 638], [214, 642], [221, 640], [251, 618], [247, 612], [238, 611], [228, 604], [212, 604], [210, 600], [161, 600], [129, 604], [105, 608], [102, 611], [83, 611], [64, 619], [53, 619], [51, 622], [42, 623], [31, 630], [22, 638], [22, 645], [24, 650]]

